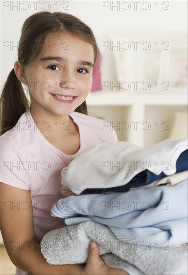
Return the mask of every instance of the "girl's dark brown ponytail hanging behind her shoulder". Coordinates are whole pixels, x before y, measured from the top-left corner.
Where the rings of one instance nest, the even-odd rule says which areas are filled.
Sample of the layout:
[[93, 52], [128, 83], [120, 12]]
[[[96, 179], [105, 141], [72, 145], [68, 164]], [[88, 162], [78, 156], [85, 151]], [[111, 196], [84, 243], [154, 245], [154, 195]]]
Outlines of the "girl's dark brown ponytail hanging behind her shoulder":
[[13, 128], [29, 108], [29, 101], [14, 69], [8, 75], [0, 98], [0, 135]]

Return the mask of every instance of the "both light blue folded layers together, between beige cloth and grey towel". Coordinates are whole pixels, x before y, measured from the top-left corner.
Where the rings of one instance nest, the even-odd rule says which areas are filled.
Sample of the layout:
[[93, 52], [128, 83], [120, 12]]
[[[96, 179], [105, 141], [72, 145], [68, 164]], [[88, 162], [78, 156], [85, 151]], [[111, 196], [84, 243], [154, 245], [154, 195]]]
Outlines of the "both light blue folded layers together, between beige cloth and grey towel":
[[127, 193], [69, 196], [53, 206], [51, 215], [65, 218], [67, 225], [97, 221], [122, 241], [177, 245], [188, 242], [187, 185], [188, 179]]

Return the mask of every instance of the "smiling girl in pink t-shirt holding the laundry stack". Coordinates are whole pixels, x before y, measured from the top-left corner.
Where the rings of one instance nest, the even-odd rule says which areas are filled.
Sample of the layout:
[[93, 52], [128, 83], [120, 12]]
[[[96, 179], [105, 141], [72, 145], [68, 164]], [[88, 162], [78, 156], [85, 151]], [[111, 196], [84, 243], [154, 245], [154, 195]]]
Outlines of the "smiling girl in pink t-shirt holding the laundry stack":
[[89, 146], [117, 141], [110, 126], [87, 116], [96, 57], [91, 29], [70, 14], [39, 12], [22, 27], [0, 100], [0, 229], [17, 275], [125, 274], [102, 261], [95, 242], [86, 266], [50, 266], [40, 250], [43, 236], [65, 225], [50, 215], [61, 198], [62, 168]]

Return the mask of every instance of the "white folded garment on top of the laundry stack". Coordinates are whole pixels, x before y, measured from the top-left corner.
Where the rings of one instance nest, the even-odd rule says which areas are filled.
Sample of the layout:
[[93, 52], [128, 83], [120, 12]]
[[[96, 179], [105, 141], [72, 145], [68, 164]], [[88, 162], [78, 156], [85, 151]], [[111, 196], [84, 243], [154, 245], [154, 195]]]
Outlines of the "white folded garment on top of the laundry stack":
[[[187, 139], [167, 139], [145, 149], [129, 142], [99, 144], [77, 156], [68, 171], [62, 170], [61, 183], [79, 195], [92, 187], [123, 186], [144, 170], [155, 175], [162, 172], [172, 175], [176, 173], [177, 159], [187, 150], [187, 145]], [[145, 181], [145, 177], [139, 180]]]

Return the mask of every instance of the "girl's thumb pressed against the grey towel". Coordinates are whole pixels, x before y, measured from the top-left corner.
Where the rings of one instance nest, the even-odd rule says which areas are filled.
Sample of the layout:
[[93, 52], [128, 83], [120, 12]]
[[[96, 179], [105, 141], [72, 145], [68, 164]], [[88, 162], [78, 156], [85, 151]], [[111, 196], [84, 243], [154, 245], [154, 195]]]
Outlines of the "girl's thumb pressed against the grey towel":
[[96, 242], [91, 241], [87, 265], [96, 267], [97, 265], [101, 264], [104, 264], [104, 262], [99, 257], [99, 246]]

